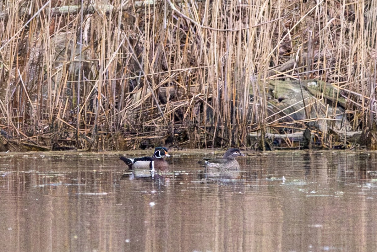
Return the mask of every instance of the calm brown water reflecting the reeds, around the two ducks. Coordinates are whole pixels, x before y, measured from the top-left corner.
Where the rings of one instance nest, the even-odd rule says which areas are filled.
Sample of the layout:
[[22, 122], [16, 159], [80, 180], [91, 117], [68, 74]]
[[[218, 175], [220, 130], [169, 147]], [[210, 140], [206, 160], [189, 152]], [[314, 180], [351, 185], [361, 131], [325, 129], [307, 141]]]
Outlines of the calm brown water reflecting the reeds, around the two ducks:
[[0, 250], [377, 250], [376, 153], [254, 154], [216, 180], [201, 158], [152, 180], [111, 153], [0, 155]]

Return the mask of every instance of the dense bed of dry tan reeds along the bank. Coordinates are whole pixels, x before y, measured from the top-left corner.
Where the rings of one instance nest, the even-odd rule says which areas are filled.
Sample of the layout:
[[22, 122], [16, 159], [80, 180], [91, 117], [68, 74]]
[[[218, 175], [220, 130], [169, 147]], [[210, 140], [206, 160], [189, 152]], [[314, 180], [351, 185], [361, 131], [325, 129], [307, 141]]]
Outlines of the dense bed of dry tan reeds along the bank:
[[250, 147], [249, 133], [316, 120], [269, 110], [268, 81], [285, 78], [331, 83], [365, 131], [377, 112], [376, 17], [364, 0], [3, 1], [3, 136], [52, 150]]

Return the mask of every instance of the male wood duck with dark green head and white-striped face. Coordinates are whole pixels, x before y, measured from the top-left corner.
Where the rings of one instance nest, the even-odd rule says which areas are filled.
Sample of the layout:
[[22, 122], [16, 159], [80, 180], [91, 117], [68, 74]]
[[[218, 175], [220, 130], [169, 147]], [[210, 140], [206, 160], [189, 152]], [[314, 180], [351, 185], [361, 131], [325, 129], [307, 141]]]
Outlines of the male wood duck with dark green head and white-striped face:
[[128, 165], [130, 170], [148, 171], [148, 176], [152, 174], [153, 177], [156, 170], [164, 171], [168, 169], [168, 163], [164, 157], [170, 157], [167, 148], [157, 147], [152, 157], [137, 157], [132, 159], [121, 156], [119, 158]]

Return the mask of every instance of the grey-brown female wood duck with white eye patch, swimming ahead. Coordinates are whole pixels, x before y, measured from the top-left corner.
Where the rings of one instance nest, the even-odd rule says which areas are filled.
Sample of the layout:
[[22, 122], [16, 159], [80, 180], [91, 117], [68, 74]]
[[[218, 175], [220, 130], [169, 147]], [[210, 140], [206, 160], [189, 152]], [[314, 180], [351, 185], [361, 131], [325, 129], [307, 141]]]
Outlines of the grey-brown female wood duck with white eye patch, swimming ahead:
[[204, 160], [206, 177], [237, 178], [239, 177], [239, 163], [236, 157], [245, 156], [239, 148], [228, 149], [222, 158]]

